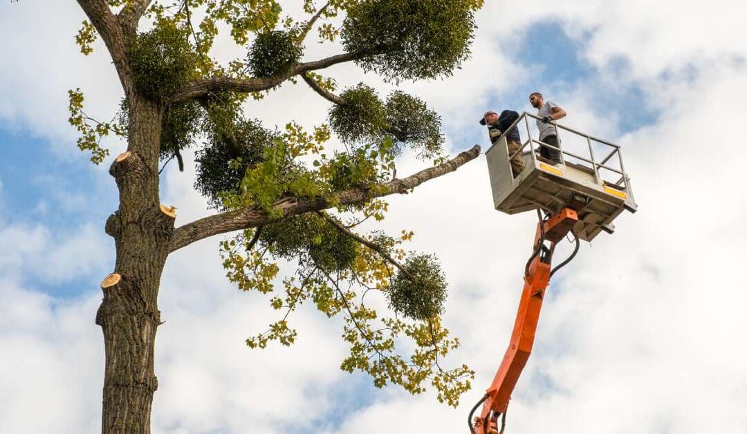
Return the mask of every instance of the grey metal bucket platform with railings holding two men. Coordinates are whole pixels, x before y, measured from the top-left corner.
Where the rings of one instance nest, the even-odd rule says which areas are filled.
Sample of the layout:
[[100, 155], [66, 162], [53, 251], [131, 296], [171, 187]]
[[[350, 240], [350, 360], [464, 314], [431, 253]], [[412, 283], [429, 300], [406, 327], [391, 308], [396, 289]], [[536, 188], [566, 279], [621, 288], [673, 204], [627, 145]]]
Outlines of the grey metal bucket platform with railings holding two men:
[[[531, 125], [530, 125], [531, 120]], [[509, 164], [506, 135], [503, 134], [486, 152], [495, 209], [507, 214], [537, 208], [555, 214], [562, 208], [577, 211], [573, 232], [584, 241], [592, 241], [600, 232], [612, 233], [613, 220], [637, 205], [625, 173], [620, 146], [553, 123], [559, 146], [541, 142], [535, 120], [524, 113], [511, 128], [518, 128], [524, 170], [514, 177]], [[562, 134], [561, 134], [562, 131]], [[561, 162], [542, 158], [543, 146], [560, 151]], [[595, 155], [604, 158], [595, 159]]]

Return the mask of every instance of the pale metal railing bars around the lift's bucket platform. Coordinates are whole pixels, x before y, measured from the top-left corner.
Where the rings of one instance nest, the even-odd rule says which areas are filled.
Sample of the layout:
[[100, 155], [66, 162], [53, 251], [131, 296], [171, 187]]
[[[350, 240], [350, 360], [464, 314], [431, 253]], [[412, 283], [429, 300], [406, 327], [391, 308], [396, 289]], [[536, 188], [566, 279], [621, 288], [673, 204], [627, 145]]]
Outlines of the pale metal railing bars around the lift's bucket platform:
[[[551, 125], [553, 125], [553, 127], [555, 128], [555, 134], [558, 139], [557, 140], [558, 146], [553, 146], [548, 143], [540, 141], [539, 133], [536, 139], [533, 137], [532, 128], [530, 127], [530, 124], [529, 124], [529, 118], [542, 122], [542, 118], [537, 117], [533, 114], [524, 112], [521, 114], [521, 116], [518, 117], [517, 120], [514, 121], [514, 123], [511, 124], [509, 128], [506, 129], [506, 131], [503, 131], [503, 134], [505, 135], [508, 131], [512, 131], [513, 128], [519, 128], [519, 134], [521, 135], [521, 137], [526, 137], [526, 140], [524, 140], [524, 142], [521, 143], [521, 147], [517, 151], [509, 155], [509, 161], [511, 161], [511, 158], [514, 158], [515, 155], [522, 154], [523, 152], [525, 152], [525, 149], [527, 148], [527, 146], [529, 146], [530, 149], [527, 149], [526, 152], [530, 152], [532, 156], [532, 161], [534, 164], [536, 164], [537, 162], [536, 152], [539, 151], [539, 149], [541, 149], [542, 147], [545, 147], [548, 149], [555, 149], [560, 152], [561, 164], [566, 164], [566, 161], [565, 161], [566, 157], [571, 157], [571, 158], [577, 159], [578, 161], [583, 161], [591, 165], [590, 167], [586, 167], [586, 166], [584, 167], [586, 167], [587, 169], [593, 170], [595, 182], [597, 182], [598, 184], [601, 185], [603, 184], [603, 182], [607, 182], [609, 184], [616, 185], [617, 187], [624, 188], [625, 190], [630, 190], [630, 177], [627, 176], [627, 173], [625, 173], [624, 164], [622, 162], [622, 151], [619, 145], [616, 145], [615, 143], [610, 143], [607, 140], [601, 140], [589, 134], [584, 134], [581, 131], [577, 131], [573, 128], [567, 127], [560, 123], [551, 122]], [[522, 123], [521, 122], [522, 120], [524, 121], [524, 127], [526, 128], [526, 131], [524, 131], [525, 134], [523, 135], [521, 134], [521, 129], [524, 129], [524, 128], [521, 128], [519, 126]], [[586, 146], [589, 151], [588, 157], [583, 156], [583, 155], [578, 155], [575, 152], [570, 152], [568, 149], [563, 149], [560, 130], [567, 131], [567, 133], [572, 134], [573, 137], [582, 137], [583, 140], [586, 141]], [[500, 142], [496, 142], [496, 143], [500, 143]], [[607, 153], [607, 155], [604, 158], [602, 158], [601, 161], [597, 161], [595, 159], [594, 144], [598, 144], [598, 147], [601, 147], [602, 149], [611, 148], [610, 152]], [[495, 146], [495, 144], [493, 146]], [[617, 156], [619, 168], [612, 167], [609, 164], [607, 164], [608, 161], [610, 161], [615, 156]], [[600, 170], [609, 170], [611, 173], [618, 174], [620, 178], [616, 182], [607, 181], [606, 179], [603, 179], [602, 176], [600, 176]]]

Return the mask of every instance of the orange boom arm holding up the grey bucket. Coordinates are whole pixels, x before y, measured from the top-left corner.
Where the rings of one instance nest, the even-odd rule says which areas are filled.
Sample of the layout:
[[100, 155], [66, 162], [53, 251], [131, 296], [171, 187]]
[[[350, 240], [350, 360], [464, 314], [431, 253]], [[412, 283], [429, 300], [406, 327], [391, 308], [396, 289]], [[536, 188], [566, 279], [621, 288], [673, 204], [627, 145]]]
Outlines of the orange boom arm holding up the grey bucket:
[[[545, 297], [545, 288], [550, 282], [551, 260], [555, 245], [573, 229], [577, 220], [576, 211], [563, 208], [548, 220], [537, 223], [534, 237], [535, 251], [525, 270], [524, 291], [521, 292], [511, 342], [492, 385], [480, 401], [483, 403], [483, 412], [479, 417], [474, 418], [474, 425], [470, 427], [474, 434], [499, 433], [498, 417], [501, 414], [505, 415], [511, 393], [532, 352], [539, 311], [542, 309], [542, 299]], [[550, 242], [549, 247], [545, 246], [545, 241]], [[503, 433], [503, 428], [500, 433]]]

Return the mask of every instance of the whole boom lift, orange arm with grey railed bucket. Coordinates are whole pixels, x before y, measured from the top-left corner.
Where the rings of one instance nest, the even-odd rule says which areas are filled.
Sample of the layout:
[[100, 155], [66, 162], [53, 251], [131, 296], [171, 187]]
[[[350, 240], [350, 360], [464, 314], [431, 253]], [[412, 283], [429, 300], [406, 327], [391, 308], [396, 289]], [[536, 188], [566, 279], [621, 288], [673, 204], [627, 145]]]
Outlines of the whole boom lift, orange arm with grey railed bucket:
[[[637, 208], [619, 146], [557, 123], [554, 123], [556, 134], [560, 129], [568, 131], [567, 136], [563, 137], [568, 143], [550, 146], [533, 139], [529, 118], [539, 120], [524, 113], [508, 129], [521, 128], [524, 130], [522, 137], [527, 137], [517, 151], [521, 152], [524, 160], [521, 173], [514, 176], [511, 171], [509, 158], [513, 155], [509, 155], [505, 137], [501, 137], [486, 152], [495, 208], [508, 214], [536, 209], [539, 223], [533, 253], [524, 267], [524, 289], [509, 347], [485, 396], [468, 416], [472, 434], [502, 434], [505, 430], [506, 409], [532, 351], [539, 311], [551, 277], [574, 258], [580, 240], [591, 241], [603, 231], [612, 233], [612, 220], [623, 210], [635, 212]], [[560, 134], [557, 136], [560, 138]], [[588, 157], [568, 149], [579, 142], [586, 145]], [[540, 157], [538, 151], [541, 146], [559, 150], [561, 163]], [[601, 161], [595, 160], [595, 148], [600, 150], [605, 147], [612, 148], [612, 151]], [[608, 163], [615, 156], [619, 162], [617, 167]], [[607, 179], [610, 173], [620, 178], [616, 182]], [[569, 233], [575, 238], [574, 251], [565, 261], [552, 268], [555, 246]], [[480, 405], [483, 409], [473, 419]]]

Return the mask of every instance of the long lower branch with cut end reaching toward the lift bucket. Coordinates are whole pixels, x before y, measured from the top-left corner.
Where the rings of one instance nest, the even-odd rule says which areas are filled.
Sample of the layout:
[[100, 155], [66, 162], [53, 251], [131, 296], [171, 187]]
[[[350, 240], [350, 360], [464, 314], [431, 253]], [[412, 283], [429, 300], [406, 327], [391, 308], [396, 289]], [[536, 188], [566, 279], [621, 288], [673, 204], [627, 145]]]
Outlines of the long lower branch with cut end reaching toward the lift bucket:
[[[273, 211], [282, 217], [270, 217], [261, 208], [252, 207], [235, 211], [226, 211], [195, 220], [175, 229], [171, 239], [171, 249], [181, 249], [195, 241], [208, 238], [213, 235], [219, 235], [226, 232], [234, 232], [241, 229], [254, 228], [256, 226], [270, 223], [274, 220], [292, 215], [303, 214], [309, 211], [321, 211], [326, 208], [332, 208], [338, 205], [351, 205], [354, 203], [365, 202], [375, 197], [388, 196], [394, 193], [406, 193], [407, 190], [417, 187], [430, 179], [438, 178], [447, 173], [453, 172], [468, 161], [474, 160], [480, 155], [480, 146], [475, 145], [468, 151], [461, 152], [450, 161], [446, 161], [438, 166], [421, 170], [412, 176], [403, 179], [393, 179], [390, 182], [374, 185], [372, 187], [351, 188], [350, 190], [339, 191], [326, 197], [311, 197], [298, 199], [288, 197], [281, 199], [273, 206]], [[275, 213], [273, 213], [275, 214]]]

